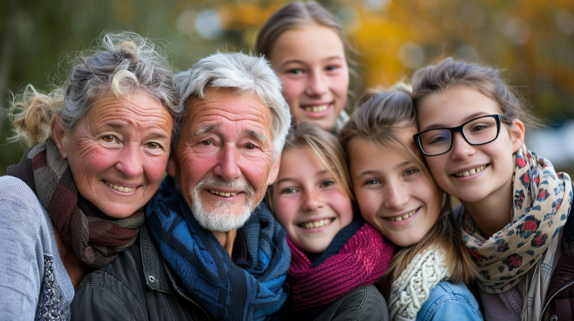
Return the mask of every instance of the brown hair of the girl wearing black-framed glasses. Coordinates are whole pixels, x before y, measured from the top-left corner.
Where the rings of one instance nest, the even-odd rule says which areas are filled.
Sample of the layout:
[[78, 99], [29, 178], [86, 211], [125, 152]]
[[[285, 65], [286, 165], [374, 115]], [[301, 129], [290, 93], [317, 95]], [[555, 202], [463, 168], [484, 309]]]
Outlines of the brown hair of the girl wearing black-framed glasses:
[[501, 79], [500, 72], [491, 67], [446, 58], [435, 65], [423, 67], [413, 75], [413, 104], [415, 108], [426, 97], [449, 88], [463, 85], [474, 88], [496, 101], [502, 115], [508, 120], [520, 120], [526, 126], [536, 128], [541, 122], [525, 110], [525, 101], [518, 90]]

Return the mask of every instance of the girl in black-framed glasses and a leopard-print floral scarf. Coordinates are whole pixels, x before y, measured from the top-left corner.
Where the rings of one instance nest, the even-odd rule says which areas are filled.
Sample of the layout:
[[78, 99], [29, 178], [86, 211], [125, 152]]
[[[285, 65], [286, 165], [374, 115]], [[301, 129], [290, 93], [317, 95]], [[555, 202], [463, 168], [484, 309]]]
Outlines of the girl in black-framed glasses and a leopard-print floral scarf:
[[415, 140], [440, 188], [461, 200], [486, 320], [573, 320], [571, 179], [526, 149], [532, 117], [492, 68], [447, 58], [413, 83]]

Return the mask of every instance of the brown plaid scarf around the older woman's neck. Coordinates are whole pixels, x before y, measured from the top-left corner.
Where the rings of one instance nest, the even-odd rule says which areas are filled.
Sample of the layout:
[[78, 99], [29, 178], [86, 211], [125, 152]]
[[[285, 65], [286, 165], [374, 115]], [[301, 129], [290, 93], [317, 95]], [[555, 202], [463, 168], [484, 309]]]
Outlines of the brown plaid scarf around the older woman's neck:
[[22, 179], [47, 209], [65, 245], [86, 265], [100, 268], [134, 244], [142, 212], [109, 217], [78, 194], [72, 171], [51, 138], [35, 145], [6, 174]]

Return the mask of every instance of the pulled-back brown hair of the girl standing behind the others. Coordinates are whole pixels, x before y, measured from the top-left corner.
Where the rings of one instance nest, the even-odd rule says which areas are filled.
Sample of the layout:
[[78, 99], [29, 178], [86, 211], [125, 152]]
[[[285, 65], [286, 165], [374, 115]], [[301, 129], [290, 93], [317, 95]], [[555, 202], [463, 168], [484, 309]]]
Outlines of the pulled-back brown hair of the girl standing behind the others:
[[352, 49], [345, 39], [343, 28], [328, 10], [315, 1], [289, 2], [273, 13], [257, 33], [255, 52], [269, 59], [273, 45], [282, 33], [308, 24], [319, 24], [333, 29], [343, 43], [347, 61], [353, 63], [349, 60], [349, 51]]

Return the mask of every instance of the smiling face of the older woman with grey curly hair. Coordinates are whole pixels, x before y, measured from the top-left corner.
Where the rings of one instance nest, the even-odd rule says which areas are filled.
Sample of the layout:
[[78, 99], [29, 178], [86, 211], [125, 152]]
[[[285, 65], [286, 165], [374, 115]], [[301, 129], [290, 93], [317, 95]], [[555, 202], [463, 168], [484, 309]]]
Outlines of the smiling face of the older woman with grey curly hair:
[[58, 124], [52, 136], [66, 158], [78, 192], [111, 217], [145, 206], [159, 188], [170, 153], [173, 117], [141, 92], [107, 94], [71, 133]]

